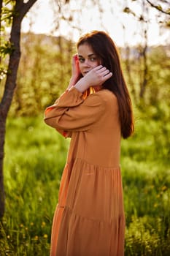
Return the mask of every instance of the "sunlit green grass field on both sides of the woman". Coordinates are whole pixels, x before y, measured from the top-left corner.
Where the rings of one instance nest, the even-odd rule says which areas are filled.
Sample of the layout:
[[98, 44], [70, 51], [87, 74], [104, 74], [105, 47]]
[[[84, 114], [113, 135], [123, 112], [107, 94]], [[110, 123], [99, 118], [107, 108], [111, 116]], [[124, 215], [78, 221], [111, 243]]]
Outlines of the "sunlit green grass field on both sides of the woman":
[[[125, 255], [170, 255], [169, 122], [136, 114], [122, 141]], [[69, 140], [42, 117], [9, 118], [4, 159], [6, 211], [0, 255], [47, 256]], [[88, 256], [88, 255], [87, 255]]]

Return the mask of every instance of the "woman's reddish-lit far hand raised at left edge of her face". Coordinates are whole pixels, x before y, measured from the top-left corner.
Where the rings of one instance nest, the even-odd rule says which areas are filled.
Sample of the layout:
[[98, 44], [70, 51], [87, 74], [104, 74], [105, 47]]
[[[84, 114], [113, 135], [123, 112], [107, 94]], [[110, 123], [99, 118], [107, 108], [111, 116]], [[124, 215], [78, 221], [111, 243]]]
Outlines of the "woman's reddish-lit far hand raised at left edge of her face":
[[79, 68], [78, 56], [77, 54], [74, 54], [74, 56], [72, 56], [72, 78], [70, 79], [68, 89], [74, 86], [75, 83], [77, 83], [77, 81], [80, 80], [81, 77], [82, 77], [82, 74]]

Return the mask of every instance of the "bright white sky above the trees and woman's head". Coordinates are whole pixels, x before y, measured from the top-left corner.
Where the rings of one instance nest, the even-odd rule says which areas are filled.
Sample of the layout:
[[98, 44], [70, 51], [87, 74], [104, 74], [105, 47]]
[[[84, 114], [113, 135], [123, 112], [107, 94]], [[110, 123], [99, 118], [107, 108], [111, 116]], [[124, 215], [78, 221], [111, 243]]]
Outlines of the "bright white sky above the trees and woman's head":
[[[51, 0], [38, 0], [31, 7], [31, 10], [23, 19], [22, 31], [33, 31], [35, 34], [47, 34], [58, 36], [62, 35], [68, 39], [77, 41], [81, 34], [94, 29], [104, 30], [109, 33], [112, 39], [118, 46], [136, 45], [143, 42], [141, 23], [137, 21], [132, 14], [128, 15], [122, 10], [125, 7], [134, 10], [136, 15], [141, 15], [142, 6], [141, 1], [131, 0], [100, 0], [101, 9], [104, 10], [102, 15], [98, 12], [98, 6], [91, 5], [90, 0], [86, 0], [85, 7], [82, 7], [82, 2], [79, 0], [70, 0], [71, 6], [63, 8], [63, 15], [68, 16], [70, 13], [75, 18], [75, 22], [69, 25], [66, 21], [60, 19], [60, 26], [55, 29], [57, 23], [55, 19], [58, 18], [57, 4], [53, 4]], [[54, 10], [56, 9], [56, 12]], [[82, 12], [80, 12], [82, 10]], [[147, 27], [148, 44], [160, 45], [170, 43], [170, 30], [160, 31], [156, 15], [158, 12], [150, 8], [148, 17], [150, 25]], [[146, 11], [145, 11], [146, 15]], [[79, 27], [80, 30], [76, 29]]]

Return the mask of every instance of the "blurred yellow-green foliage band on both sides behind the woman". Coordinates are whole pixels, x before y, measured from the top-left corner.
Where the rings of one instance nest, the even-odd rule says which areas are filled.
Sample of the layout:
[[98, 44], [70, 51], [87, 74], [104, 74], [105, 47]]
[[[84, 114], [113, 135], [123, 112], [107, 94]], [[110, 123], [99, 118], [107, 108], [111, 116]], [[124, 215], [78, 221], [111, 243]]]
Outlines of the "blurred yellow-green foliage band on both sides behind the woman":
[[[10, 115], [36, 116], [66, 89], [71, 76], [74, 43], [63, 37], [23, 34], [21, 45], [18, 86]], [[129, 48], [129, 56], [125, 48], [120, 48], [125, 80], [135, 105], [139, 105], [139, 108], [150, 105], [161, 108], [158, 106], [161, 99], [169, 102], [170, 97], [169, 45], [147, 49], [147, 86], [142, 99], [139, 95], [144, 75], [141, 48], [140, 45]]]

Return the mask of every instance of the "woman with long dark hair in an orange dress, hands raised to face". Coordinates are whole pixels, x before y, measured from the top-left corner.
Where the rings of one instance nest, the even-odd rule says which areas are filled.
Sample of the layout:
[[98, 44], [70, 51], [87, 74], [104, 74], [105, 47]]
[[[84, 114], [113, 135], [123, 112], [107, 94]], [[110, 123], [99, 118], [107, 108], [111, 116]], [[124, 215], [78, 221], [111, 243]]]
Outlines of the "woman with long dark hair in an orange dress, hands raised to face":
[[104, 31], [80, 37], [69, 87], [45, 110], [45, 123], [72, 138], [50, 255], [124, 255], [120, 139], [134, 123], [117, 49]]

